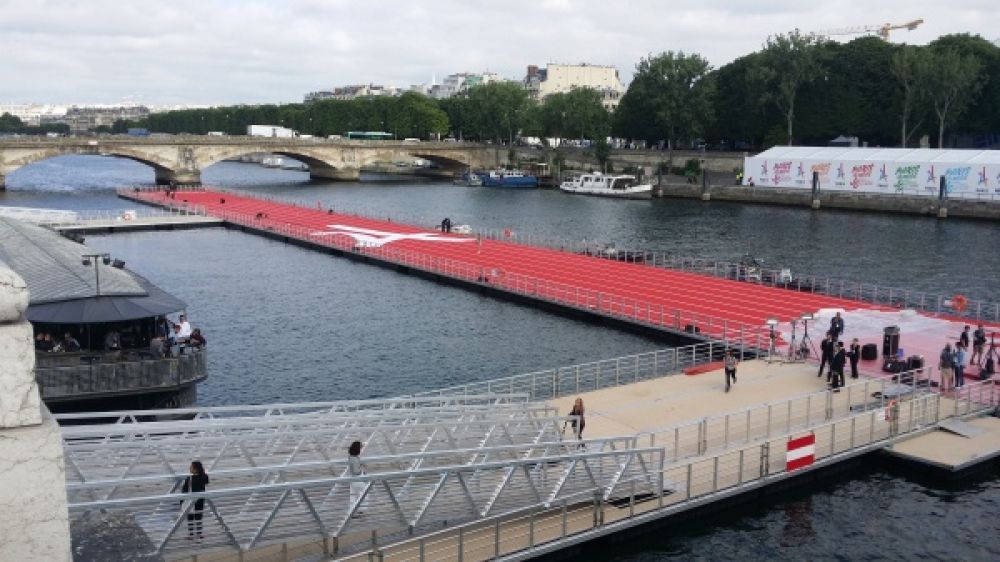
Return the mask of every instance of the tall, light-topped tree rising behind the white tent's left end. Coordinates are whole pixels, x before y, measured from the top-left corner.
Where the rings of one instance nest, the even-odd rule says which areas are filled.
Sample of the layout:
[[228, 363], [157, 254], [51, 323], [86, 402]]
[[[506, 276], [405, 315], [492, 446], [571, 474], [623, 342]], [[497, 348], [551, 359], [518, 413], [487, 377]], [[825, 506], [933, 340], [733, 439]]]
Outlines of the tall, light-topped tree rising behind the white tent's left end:
[[761, 64], [755, 69], [756, 79], [765, 86], [764, 100], [773, 102], [785, 118], [789, 145], [799, 89], [820, 71], [816, 62], [818, 43], [815, 36], [803, 35], [798, 30], [769, 37], [761, 52]]

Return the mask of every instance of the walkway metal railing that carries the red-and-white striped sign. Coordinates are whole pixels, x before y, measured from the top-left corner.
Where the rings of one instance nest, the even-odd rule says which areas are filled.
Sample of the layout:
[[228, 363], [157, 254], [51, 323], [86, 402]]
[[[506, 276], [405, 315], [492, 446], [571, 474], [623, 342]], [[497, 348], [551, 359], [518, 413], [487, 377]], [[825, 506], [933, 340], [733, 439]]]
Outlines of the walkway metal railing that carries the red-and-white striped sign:
[[787, 468], [786, 449], [789, 440], [802, 434], [815, 438], [814, 467], [882, 448], [933, 427], [939, 420], [940, 403], [940, 395], [922, 394], [900, 401], [890, 410], [872, 409], [818, 424], [807, 432], [667, 464], [659, 475], [663, 491], [655, 494], [629, 490], [627, 497], [608, 502], [581, 493], [554, 504], [539, 502], [384, 546], [373, 541], [350, 559], [532, 558], [557, 550], [569, 540], [579, 543], [794, 476], [796, 470]]

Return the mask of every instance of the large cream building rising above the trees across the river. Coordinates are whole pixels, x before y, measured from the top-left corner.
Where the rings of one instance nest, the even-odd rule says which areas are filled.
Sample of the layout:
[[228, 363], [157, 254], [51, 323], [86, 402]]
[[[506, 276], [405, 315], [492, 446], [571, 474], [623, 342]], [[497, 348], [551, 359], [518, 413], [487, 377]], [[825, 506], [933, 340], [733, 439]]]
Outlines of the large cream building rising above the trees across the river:
[[524, 78], [528, 95], [535, 100], [565, 93], [573, 88], [593, 88], [601, 93], [602, 103], [609, 111], [618, 107], [625, 86], [618, 78], [618, 70], [613, 66], [596, 64], [549, 64], [545, 68], [528, 66]]

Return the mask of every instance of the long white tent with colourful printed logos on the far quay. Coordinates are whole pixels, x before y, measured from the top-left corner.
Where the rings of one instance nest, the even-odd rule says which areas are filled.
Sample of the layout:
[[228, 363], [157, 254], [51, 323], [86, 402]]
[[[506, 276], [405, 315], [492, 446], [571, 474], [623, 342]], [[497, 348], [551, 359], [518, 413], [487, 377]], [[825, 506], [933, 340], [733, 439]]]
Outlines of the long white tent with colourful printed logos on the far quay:
[[1000, 195], [1000, 151], [930, 148], [779, 146], [747, 157], [743, 183], [762, 187], [812, 188], [813, 172], [824, 191]]

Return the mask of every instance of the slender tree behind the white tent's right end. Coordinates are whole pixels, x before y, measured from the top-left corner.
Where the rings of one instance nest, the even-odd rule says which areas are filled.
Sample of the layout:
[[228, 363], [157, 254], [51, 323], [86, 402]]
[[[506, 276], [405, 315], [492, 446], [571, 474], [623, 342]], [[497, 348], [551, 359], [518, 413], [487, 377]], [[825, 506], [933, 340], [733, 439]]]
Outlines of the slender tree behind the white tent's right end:
[[938, 119], [938, 148], [944, 147], [944, 130], [957, 121], [976, 99], [983, 85], [979, 61], [952, 48], [931, 47], [919, 59], [917, 79], [926, 88], [927, 98]]

